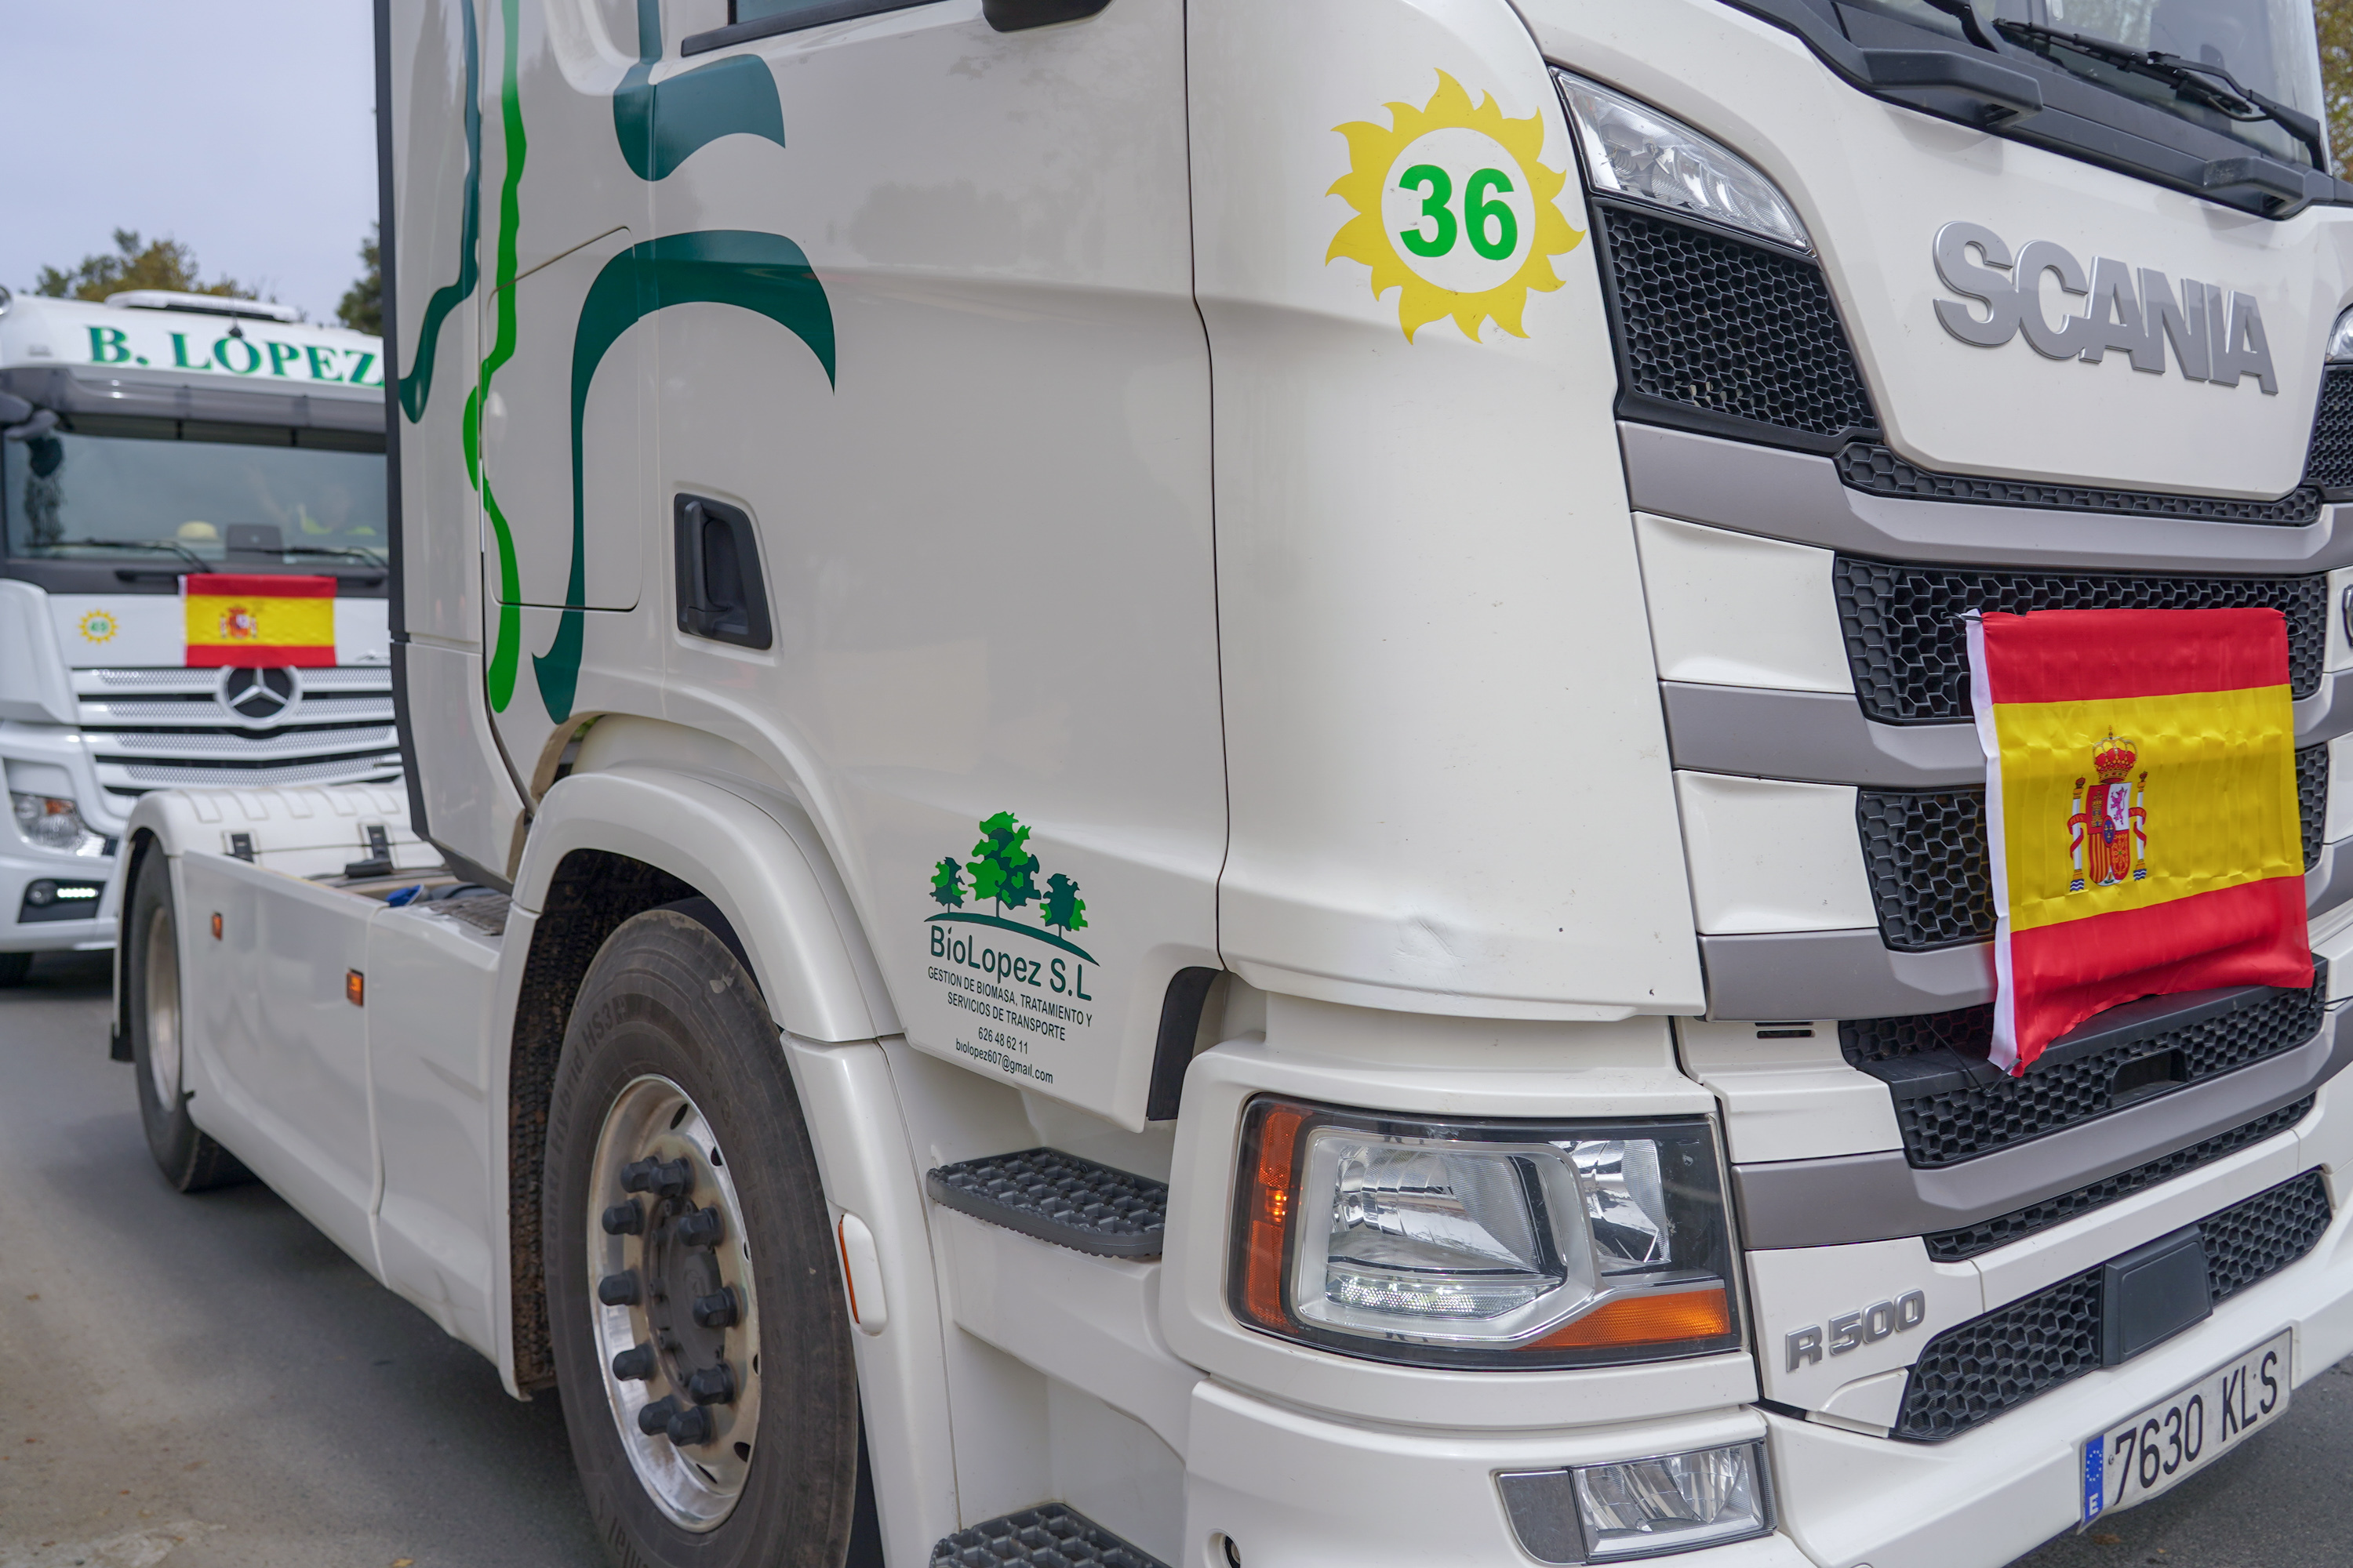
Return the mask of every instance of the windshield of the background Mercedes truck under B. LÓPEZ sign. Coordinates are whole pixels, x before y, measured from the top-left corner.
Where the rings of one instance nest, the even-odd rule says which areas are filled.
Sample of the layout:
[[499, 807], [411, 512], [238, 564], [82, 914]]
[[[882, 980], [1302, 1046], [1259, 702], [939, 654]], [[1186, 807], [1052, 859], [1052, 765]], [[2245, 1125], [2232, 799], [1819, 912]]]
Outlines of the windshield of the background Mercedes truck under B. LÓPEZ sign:
[[78, 414], [0, 442], [7, 552], [181, 569], [384, 564], [384, 437]]

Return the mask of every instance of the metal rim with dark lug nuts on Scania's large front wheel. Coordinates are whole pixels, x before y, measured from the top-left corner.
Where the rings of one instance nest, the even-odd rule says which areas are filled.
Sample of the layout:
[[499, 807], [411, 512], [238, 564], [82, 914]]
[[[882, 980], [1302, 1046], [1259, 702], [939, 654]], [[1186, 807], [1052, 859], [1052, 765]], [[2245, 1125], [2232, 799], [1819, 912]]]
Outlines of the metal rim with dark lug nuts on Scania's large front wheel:
[[760, 1302], [734, 1178], [685, 1088], [647, 1074], [614, 1098], [588, 1192], [588, 1312], [621, 1448], [673, 1523], [718, 1528], [760, 1432]]

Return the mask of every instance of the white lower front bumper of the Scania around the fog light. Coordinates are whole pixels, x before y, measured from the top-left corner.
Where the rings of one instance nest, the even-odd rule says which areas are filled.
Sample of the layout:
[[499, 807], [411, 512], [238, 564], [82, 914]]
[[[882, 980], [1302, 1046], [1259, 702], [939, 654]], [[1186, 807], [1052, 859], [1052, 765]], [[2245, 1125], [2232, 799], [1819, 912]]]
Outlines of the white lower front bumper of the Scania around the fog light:
[[[1772, 1450], [1777, 1533], [1678, 1568], [2002, 1568], [2073, 1528], [2089, 1434], [2294, 1328], [2294, 1382], [2353, 1352], [2353, 1211], [2313, 1253], [2134, 1361], [2089, 1373], [1948, 1443], [1901, 1443], [1751, 1406], [1539, 1432], [1334, 1420], [1217, 1380], [1193, 1389], [1186, 1561], [1287, 1568], [1527, 1568], [1497, 1476], [1753, 1439]], [[1574, 1415], [1565, 1410], [1562, 1415]], [[1631, 1559], [1668, 1561], [1668, 1559]]]

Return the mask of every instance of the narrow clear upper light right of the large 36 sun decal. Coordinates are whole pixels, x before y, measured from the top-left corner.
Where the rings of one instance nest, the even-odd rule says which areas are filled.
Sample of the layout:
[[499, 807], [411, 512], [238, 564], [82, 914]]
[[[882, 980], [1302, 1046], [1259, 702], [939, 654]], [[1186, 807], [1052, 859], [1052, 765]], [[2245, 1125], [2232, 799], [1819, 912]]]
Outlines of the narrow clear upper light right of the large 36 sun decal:
[[1577, 127], [1591, 190], [1689, 212], [1791, 249], [1814, 249], [1798, 209], [1739, 153], [1621, 92], [1567, 71], [1553, 71], [1553, 80]]

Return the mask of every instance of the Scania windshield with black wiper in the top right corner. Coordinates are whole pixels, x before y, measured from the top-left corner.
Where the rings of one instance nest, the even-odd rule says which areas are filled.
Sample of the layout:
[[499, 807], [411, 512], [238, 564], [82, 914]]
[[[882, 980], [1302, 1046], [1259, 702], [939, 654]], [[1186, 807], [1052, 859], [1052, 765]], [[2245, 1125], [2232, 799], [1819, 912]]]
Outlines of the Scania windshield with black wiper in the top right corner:
[[[2035, 59], [2282, 162], [2325, 169], [2311, 0], [1838, 0]], [[1967, 12], [1967, 14], [1962, 14]]]

